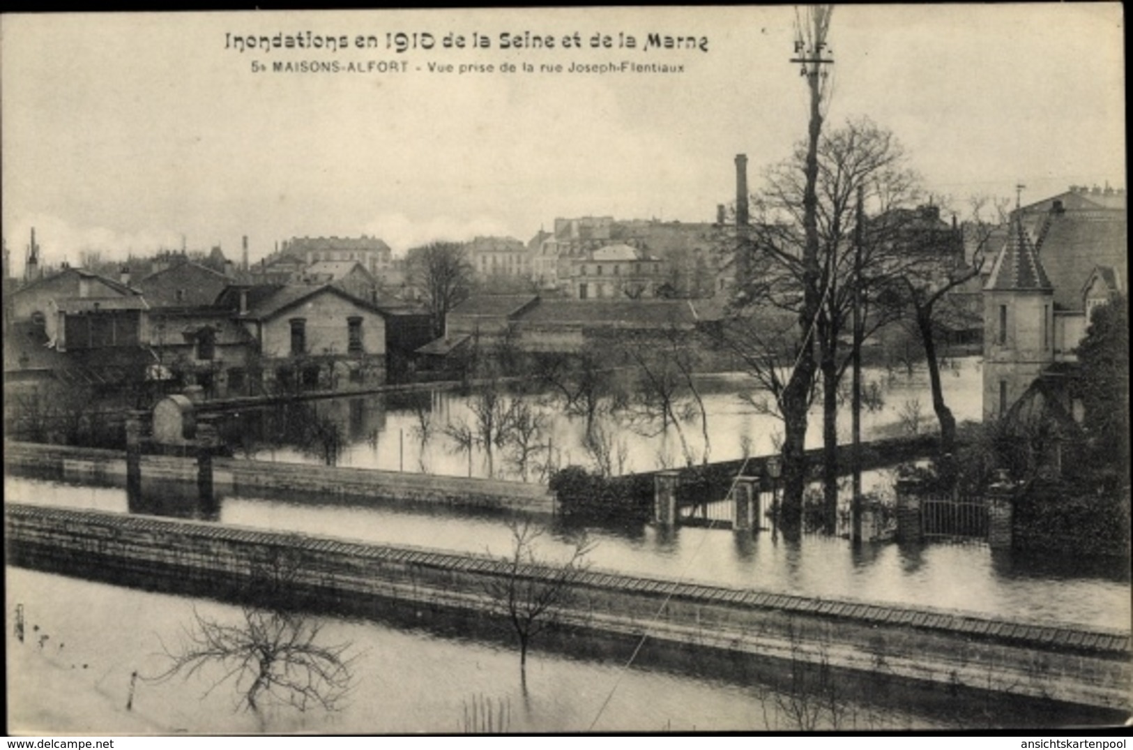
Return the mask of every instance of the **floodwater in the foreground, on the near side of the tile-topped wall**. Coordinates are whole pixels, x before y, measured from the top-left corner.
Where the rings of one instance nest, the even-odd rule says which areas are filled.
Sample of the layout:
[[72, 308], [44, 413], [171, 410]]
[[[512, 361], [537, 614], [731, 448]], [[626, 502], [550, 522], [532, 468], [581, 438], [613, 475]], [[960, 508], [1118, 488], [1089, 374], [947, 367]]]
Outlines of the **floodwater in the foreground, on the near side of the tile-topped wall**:
[[[188, 679], [153, 680], [169, 667], [167, 650], [178, 651], [195, 616], [238, 625], [239, 607], [22, 569], [8, 569], [6, 589], [7, 611], [23, 605], [27, 633], [24, 642], [8, 634], [8, 716], [17, 733], [484, 732], [474, 706], [480, 716], [491, 706], [493, 728], [509, 732], [886, 731], [1033, 721], [1020, 718], [1033, 717], [1022, 700], [993, 710], [945, 699], [928, 713], [869, 705], [861, 693], [830, 688], [823, 694], [834, 699], [835, 718], [818, 698], [776, 692], [759, 674], [726, 681], [627, 666], [629, 648], [606, 659], [536, 648], [525, 687], [518, 654], [504, 642], [310, 615], [322, 628], [318, 645], [348, 646], [353, 689], [339, 710], [269, 707], [261, 724], [237, 709], [240, 689], [220, 681], [218, 664]], [[813, 723], [801, 718], [806, 714]]]

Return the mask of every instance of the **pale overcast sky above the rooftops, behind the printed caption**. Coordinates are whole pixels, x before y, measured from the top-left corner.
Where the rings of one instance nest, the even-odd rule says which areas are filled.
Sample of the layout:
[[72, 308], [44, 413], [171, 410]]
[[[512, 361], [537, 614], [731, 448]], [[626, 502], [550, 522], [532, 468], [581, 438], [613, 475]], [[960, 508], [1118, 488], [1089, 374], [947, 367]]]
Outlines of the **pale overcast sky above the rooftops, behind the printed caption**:
[[[736, 153], [757, 188], [806, 133], [793, 22], [789, 7], [6, 15], [3, 237], [18, 272], [33, 225], [58, 263], [179, 247], [182, 235], [229, 257], [248, 235], [255, 261], [304, 235], [376, 235], [401, 253], [474, 235], [526, 241], [555, 216], [712, 221], [734, 199]], [[927, 187], [957, 203], [1014, 197], [1020, 181], [1024, 202], [1125, 187], [1122, 25], [1116, 3], [838, 7], [828, 121], [893, 129]], [[399, 31], [436, 46], [384, 49]], [[307, 32], [349, 48], [225, 49]], [[492, 46], [444, 49], [450, 32]], [[554, 49], [500, 49], [501, 34], [525, 32]], [[563, 49], [576, 32], [583, 48]], [[637, 48], [617, 49], [619, 32]], [[615, 46], [593, 49], [596, 33]], [[650, 33], [706, 37], [707, 51], [642, 49]], [[383, 49], [356, 49], [359, 34]], [[565, 71], [623, 60], [683, 71]], [[368, 61], [407, 70], [344, 70]]]

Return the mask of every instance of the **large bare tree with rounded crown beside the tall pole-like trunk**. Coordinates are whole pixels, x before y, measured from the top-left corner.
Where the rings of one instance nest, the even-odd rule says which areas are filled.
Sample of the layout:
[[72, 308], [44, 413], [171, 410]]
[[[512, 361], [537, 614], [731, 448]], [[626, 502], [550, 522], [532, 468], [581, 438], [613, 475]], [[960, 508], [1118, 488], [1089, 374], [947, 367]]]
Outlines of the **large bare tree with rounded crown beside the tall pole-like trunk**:
[[[838, 385], [851, 363], [855, 347], [897, 314], [889, 306], [875, 305], [886, 293], [900, 264], [894, 263], [888, 237], [905, 223], [919, 219], [912, 211], [919, 198], [917, 176], [906, 167], [906, 156], [894, 135], [869, 119], [850, 120], [819, 139], [817, 162], [816, 216], [817, 274], [800, 264], [798, 246], [810, 241], [809, 230], [798, 237], [798, 227], [808, 225], [809, 144], [799, 144], [793, 156], [774, 165], [767, 186], [757, 202], [766, 220], [755, 235], [757, 252], [768, 262], [766, 273], [786, 285], [786, 292], [767, 284], [760, 298], [795, 312], [808, 301], [808, 284], [818, 297], [811, 330], [821, 375], [824, 485], [828, 526], [833, 527], [837, 502], [837, 402]], [[864, 208], [874, 219], [864, 221]], [[859, 227], [859, 224], [861, 224]], [[947, 229], [947, 228], [945, 228]], [[854, 300], [864, 309], [853, 343], [851, 332]], [[800, 360], [801, 364], [801, 360]], [[790, 432], [790, 431], [789, 431]], [[789, 441], [790, 442], [790, 441]]]

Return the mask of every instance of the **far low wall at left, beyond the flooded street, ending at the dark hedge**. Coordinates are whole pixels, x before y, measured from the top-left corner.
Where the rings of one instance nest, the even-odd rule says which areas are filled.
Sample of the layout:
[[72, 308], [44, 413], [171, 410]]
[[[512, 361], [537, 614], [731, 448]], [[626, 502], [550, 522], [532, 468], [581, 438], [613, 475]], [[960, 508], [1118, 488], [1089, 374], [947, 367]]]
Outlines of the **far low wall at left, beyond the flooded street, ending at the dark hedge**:
[[[42, 476], [126, 484], [123, 451], [5, 443], [5, 468]], [[401, 471], [213, 459], [214, 485], [237, 493], [288, 491], [360, 500], [444, 504], [553, 513], [554, 496], [543, 485]], [[143, 455], [145, 479], [197, 480], [197, 462], [174, 455]]]

